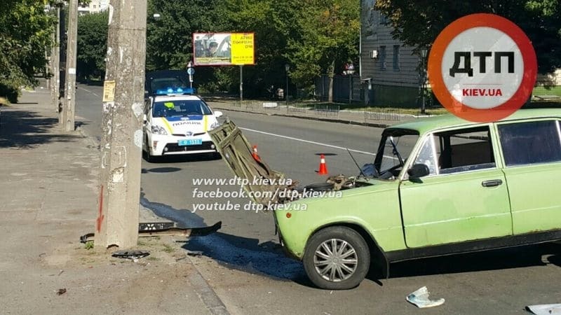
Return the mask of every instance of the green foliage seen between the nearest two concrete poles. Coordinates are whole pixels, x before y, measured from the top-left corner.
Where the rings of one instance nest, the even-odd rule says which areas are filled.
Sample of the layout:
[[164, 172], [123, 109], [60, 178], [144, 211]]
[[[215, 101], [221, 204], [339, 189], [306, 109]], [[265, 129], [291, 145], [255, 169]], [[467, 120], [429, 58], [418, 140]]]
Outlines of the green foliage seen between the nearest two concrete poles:
[[107, 10], [78, 18], [76, 63], [79, 78], [104, 78], [108, 20]]

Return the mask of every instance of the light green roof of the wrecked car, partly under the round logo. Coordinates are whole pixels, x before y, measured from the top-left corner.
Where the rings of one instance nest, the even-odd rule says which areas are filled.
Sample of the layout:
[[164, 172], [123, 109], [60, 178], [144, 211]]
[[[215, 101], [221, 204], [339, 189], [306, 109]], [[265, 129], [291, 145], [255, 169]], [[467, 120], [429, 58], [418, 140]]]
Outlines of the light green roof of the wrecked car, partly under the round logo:
[[[519, 109], [511, 116], [503, 118], [499, 121], [521, 120], [532, 118], [561, 118], [561, 109]], [[468, 120], [461, 119], [452, 114], [419, 118], [407, 123], [392, 125], [391, 129], [410, 129], [417, 130], [419, 134], [424, 134], [431, 130], [443, 129], [447, 127], [461, 127], [468, 125], [481, 125], [483, 123], [473, 123]]]

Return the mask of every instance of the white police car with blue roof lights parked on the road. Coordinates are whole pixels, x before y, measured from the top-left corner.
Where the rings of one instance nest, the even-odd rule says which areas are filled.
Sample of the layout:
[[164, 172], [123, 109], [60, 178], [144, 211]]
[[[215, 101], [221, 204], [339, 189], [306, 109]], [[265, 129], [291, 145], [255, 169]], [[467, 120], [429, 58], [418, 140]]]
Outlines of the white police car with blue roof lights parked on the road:
[[142, 150], [148, 162], [155, 156], [212, 153], [217, 155], [208, 131], [219, 126], [220, 111], [194, 94], [192, 88], [156, 90], [144, 104]]

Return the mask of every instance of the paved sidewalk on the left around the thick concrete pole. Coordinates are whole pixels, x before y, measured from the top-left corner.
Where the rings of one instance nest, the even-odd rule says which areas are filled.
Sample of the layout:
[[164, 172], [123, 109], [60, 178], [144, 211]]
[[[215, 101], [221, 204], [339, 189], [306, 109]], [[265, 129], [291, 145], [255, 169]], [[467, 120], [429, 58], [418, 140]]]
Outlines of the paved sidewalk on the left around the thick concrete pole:
[[95, 226], [99, 151], [49, 100], [43, 87], [1, 109], [0, 314], [227, 314], [172, 237], [140, 239], [150, 255], [137, 261], [80, 243]]

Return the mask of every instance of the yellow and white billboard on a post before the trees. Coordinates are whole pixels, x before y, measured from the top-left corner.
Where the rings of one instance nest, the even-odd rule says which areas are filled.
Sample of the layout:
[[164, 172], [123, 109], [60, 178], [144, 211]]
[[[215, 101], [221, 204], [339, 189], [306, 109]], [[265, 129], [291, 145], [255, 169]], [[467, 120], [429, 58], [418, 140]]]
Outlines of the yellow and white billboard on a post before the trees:
[[254, 33], [194, 33], [195, 66], [255, 64]]

